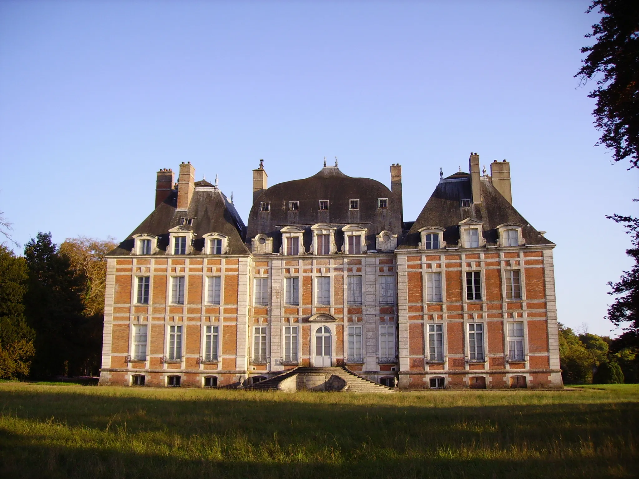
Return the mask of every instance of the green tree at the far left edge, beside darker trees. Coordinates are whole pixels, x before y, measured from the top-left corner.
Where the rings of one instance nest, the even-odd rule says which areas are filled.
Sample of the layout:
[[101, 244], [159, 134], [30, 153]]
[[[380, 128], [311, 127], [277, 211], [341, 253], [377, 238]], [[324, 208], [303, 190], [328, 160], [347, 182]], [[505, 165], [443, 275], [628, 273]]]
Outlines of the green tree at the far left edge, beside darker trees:
[[27, 264], [0, 245], [0, 377], [15, 379], [29, 374], [34, 332], [24, 317]]

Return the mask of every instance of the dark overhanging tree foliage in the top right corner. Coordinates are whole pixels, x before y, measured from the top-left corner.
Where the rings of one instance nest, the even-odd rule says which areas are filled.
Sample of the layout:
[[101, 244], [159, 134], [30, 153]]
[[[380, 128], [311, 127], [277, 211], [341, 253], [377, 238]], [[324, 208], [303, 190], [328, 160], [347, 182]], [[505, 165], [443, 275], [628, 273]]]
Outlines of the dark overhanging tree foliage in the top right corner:
[[639, 166], [639, 2], [594, 0], [587, 10], [603, 16], [586, 38], [596, 38], [575, 77], [596, 79], [590, 92], [596, 98], [592, 114], [602, 131], [598, 144], [613, 150], [613, 160], [629, 158], [630, 168]]

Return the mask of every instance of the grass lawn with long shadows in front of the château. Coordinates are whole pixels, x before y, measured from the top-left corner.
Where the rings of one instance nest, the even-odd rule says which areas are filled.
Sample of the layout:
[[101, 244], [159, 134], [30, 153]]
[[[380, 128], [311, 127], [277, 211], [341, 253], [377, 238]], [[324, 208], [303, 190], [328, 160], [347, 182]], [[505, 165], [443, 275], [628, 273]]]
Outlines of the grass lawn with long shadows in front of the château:
[[3, 478], [636, 478], [639, 385], [394, 395], [0, 383]]

